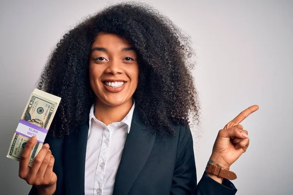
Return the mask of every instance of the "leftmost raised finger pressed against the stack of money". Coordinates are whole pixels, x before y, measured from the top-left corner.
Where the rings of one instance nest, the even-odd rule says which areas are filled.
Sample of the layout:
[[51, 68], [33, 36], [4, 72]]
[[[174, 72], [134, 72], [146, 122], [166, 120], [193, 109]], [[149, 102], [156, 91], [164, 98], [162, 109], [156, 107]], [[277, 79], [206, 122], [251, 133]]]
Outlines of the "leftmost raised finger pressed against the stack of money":
[[27, 171], [29, 170], [28, 168], [28, 163], [29, 163], [29, 156], [32, 152], [32, 149], [34, 148], [34, 146], [36, 145], [36, 140], [37, 137], [33, 136], [31, 137], [28, 142], [25, 144], [22, 153], [21, 153], [21, 159], [20, 159], [20, 169], [19, 172], [24, 172], [22, 174], [26, 175], [25, 173], [27, 173]]

